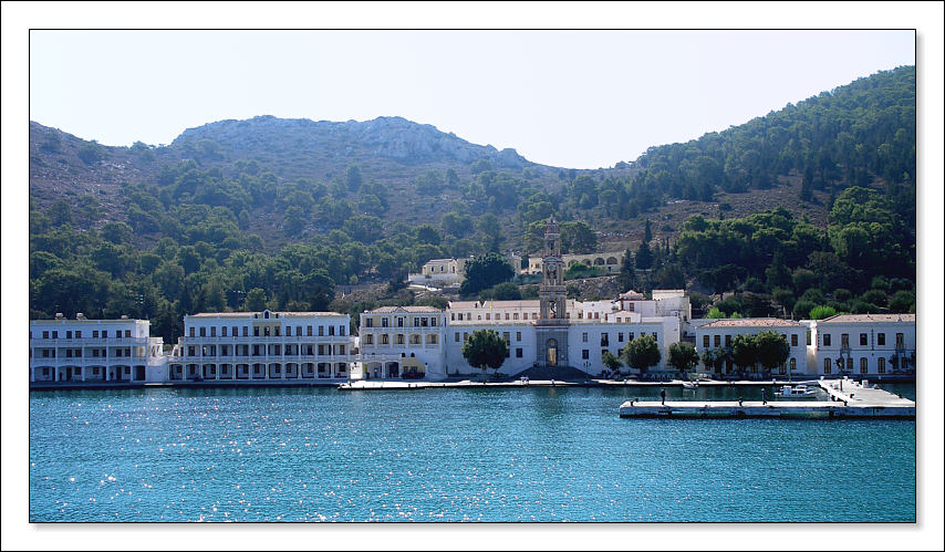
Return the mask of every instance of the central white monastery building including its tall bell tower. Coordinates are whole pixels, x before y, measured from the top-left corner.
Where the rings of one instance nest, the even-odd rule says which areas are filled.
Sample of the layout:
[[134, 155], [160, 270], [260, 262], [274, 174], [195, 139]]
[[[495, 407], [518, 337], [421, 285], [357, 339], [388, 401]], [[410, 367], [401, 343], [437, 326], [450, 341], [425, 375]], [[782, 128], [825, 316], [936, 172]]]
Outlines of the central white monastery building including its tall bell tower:
[[642, 335], [655, 337], [663, 355], [651, 369], [665, 368], [668, 345], [678, 341], [679, 321], [689, 317], [685, 293], [669, 290], [654, 292], [653, 300], [638, 295], [586, 303], [567, 299], [553, 219], [544, 241], [538, 300], [453, 301], [444, 311], [398, 306], [363, 313], [360, 361], [365, 377], [422, 374], [437, 379], [476, 373], [463, 356], [463, 345], [477, 330], [494, 330], [505, 339], [509, 357], [499, 372], [506, 375], [536, 366], [570, 366], [599, 376], [605, 369], [604, 352], [619, 356], [627, 342]]

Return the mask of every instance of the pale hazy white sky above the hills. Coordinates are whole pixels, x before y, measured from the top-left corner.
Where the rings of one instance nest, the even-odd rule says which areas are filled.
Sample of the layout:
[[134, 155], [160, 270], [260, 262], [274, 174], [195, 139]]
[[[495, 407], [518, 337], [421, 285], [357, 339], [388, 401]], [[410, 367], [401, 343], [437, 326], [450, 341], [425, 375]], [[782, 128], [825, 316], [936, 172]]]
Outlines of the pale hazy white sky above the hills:
[[915, 63], [906, 31], [31, 31], [30, 119], [168, 144], [256, 115], [399, 115], [598, 168]]

